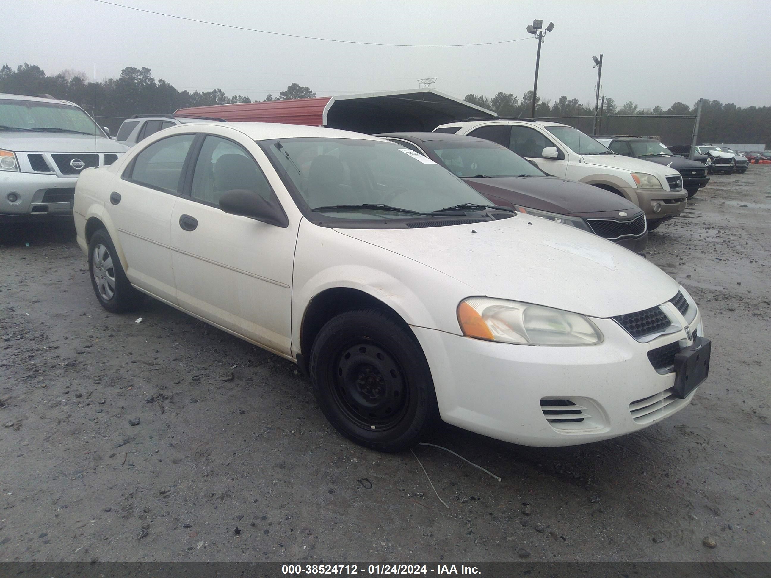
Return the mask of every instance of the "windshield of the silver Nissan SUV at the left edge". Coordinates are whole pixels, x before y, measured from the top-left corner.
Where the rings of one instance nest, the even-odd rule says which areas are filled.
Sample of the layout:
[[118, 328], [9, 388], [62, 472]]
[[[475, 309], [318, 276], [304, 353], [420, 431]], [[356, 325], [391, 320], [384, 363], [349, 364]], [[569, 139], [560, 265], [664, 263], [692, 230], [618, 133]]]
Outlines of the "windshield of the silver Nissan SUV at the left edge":
[[77, 106], [16, 99], [0, 99], [0, 130], [105, 136]]

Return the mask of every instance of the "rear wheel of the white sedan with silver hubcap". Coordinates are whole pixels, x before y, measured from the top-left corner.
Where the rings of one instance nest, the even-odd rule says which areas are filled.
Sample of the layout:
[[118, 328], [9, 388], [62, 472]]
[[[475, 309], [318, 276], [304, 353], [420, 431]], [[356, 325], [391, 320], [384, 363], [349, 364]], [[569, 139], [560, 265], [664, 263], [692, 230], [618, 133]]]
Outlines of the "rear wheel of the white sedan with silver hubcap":
[[107, 311], [124, 313], [140, 303], [142, 294], [126, 277], [106, 229], [94, 232], [89, 241], [89, 274], [96, 298]]

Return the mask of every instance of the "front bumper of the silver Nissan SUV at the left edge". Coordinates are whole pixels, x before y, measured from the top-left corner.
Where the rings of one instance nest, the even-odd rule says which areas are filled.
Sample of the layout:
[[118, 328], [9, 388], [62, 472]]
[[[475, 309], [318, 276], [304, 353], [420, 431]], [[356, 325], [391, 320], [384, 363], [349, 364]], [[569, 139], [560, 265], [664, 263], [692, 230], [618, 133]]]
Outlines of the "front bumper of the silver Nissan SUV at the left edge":
[[[0, 217], [3, 220], [72, 218], [76, 181], [76, 177], [0, 171]], [[9, 193], [15, 193], [18, 200], [8, 200]]]

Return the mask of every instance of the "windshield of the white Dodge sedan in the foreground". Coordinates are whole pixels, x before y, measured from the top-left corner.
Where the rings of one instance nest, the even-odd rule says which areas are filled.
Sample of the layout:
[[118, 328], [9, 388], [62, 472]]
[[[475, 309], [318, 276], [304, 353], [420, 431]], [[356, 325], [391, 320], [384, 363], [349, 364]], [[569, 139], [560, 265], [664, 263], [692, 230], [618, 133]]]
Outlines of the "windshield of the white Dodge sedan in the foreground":
[[396, 144], [299, 138], [261, 145], [311, 210], [335, 218], [405, 218], [456, 205], [491, 205], [433, 160]]

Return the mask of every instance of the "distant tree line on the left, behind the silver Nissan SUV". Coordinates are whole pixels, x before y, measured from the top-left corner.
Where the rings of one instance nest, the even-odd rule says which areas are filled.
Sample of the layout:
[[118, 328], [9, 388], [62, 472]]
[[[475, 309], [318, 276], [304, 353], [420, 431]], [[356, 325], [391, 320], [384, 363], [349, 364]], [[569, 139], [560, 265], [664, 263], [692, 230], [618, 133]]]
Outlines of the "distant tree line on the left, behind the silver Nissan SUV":
[[[62, 70], [45, 74], [39, 66], [25, 62], [12, 69], [0, 68], [0, 92], [10, 94], [49, 94], [57, 99], [75, 102], [88, 111], [101, 126], [116, 134], [123, 119], [134, 114], [171, 114], [188, 106], [252, 102], [248, 96], [227, 96], [221, 89], [207, 92], [177, 90], [163, 79], [156, 80], [148, 68], [126, 66], [116, 79], [89, 82], [86, 72]], [[266, 100], [307, 99], [316, 96], [308, 86], [293, 82], [278, 96], [268, 94]]]

